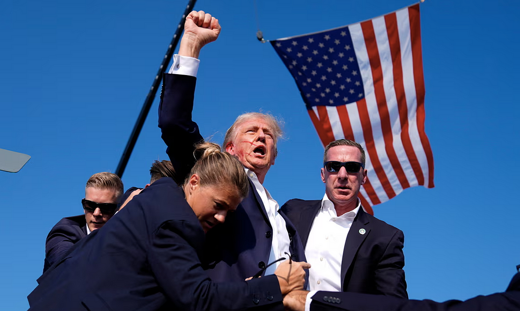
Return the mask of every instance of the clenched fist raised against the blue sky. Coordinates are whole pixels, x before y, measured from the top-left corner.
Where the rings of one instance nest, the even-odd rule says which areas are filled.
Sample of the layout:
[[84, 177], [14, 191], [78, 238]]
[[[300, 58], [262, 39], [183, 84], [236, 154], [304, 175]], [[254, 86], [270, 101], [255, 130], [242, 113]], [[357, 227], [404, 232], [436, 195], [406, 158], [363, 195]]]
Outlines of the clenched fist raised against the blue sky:
[[178, 54], [199, 58], [200, 50], [215, 41], [220, 34], [218, 20], [204, 11], [191, 11], [184, 23], [184, 35], [180, 40]]

